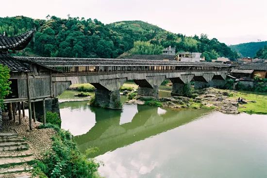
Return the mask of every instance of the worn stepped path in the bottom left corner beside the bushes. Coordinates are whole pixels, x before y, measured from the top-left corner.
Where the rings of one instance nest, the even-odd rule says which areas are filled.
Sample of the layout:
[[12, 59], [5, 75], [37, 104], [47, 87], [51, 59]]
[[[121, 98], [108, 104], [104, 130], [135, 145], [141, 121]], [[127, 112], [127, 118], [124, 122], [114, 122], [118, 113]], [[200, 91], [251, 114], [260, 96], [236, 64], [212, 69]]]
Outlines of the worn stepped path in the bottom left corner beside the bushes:
[[33, 154], [17, 133], [0, 133], [0, 178], [30, 178]]

